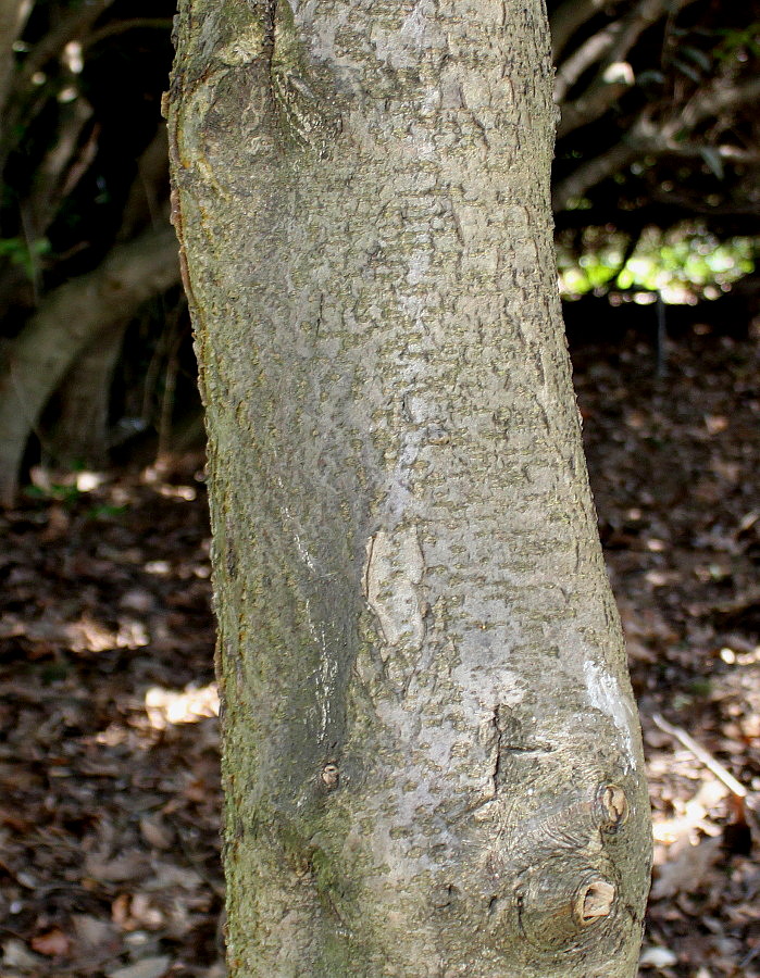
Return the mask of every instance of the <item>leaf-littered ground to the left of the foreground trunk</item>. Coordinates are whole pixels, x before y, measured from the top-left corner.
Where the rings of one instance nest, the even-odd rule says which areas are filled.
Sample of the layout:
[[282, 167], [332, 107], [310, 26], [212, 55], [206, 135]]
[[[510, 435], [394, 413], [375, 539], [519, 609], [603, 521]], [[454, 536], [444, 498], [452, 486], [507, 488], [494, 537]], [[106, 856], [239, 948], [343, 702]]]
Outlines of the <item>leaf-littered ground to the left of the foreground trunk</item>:
[[0, 515], [2, 978], [224, 975], [200, 466]]

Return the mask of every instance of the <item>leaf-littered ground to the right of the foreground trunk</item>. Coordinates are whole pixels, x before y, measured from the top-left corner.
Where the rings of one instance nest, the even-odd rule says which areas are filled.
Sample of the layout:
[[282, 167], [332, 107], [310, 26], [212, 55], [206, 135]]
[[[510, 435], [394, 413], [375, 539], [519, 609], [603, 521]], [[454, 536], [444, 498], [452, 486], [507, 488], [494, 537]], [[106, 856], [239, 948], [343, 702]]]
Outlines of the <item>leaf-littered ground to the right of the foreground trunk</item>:
[[656, 978], [760, 975], [760, 351], [709, 336], [695, 313], [664, 378], [635, 339], [576, 358], [648, 758], [655, 874], [641, 975]]

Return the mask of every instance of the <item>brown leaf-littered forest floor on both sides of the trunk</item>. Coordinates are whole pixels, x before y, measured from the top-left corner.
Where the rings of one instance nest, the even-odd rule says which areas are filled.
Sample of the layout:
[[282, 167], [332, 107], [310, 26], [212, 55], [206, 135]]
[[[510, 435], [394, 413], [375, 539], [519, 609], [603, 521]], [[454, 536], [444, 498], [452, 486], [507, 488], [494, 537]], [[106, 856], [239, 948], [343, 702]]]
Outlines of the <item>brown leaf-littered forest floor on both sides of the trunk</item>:
[[[759, 360], [574, 355], [655, 814], [641, 976], [760, 976]], [[202, 459], [96, 481], [0, 516], [0, 978], [221, 978]]]

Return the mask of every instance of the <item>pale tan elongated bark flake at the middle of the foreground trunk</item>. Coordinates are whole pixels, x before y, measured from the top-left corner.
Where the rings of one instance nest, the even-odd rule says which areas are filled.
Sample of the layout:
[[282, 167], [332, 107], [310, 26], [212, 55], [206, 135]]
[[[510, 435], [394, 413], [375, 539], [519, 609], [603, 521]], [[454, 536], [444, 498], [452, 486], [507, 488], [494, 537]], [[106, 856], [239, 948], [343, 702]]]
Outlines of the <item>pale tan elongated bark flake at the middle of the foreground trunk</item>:
[[364, 593], [388, 645], [416, 652], [425, 637], [418, 587], [425, 569], [416, 526], [377, 530], [366, 543]]

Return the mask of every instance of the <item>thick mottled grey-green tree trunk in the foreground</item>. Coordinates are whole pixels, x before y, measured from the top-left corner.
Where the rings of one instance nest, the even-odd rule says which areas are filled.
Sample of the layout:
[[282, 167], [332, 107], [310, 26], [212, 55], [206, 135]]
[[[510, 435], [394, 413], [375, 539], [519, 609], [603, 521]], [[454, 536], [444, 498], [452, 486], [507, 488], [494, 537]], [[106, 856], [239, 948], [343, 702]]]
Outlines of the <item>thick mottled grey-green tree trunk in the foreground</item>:
[[648, 804], [540, 0], [184, 0], [232, 975], [631, 978]]

